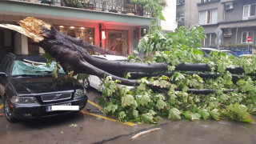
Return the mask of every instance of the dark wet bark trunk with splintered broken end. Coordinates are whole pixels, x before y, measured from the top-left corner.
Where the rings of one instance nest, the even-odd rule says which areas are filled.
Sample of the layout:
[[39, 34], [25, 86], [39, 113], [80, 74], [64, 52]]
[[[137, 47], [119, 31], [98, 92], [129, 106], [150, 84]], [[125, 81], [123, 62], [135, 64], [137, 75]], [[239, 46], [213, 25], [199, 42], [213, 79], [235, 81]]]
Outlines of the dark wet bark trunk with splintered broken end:
[[[36, 18], [25, 18], [19, 22], [21, 27], [11, 25], [0, 25], [16, 30], [32, 38], [34, 42], [38, 42], [46, 53], [50, 54], [62, 65], [66, 72], [74, 71], [74, 74], [93, 74], [104, 78], [111, 76], [114, 80], [120, 80], [122, 84], [134, 86], [138, 82], [133, 79], [122, 78], [123, 74], [131, 72], [134, 78], [142, 78], [143, 75], [150, 76], [165, 74], [168, 70], [166, 62], [159, 63], [136, 63], [136, 62], [117, 62], [108, 61], [90, 56], [87, 50], [92, 50], [101, 54], [113, 54], [112, 51], [102, 50], [98, 46], [83, 42], [80, 39], [70, 37], [66, 34], [58, 32], [46, 22], [42, 22]], [[210, 66], [206, 64], [180, 63], [175, 70], [184, 71], [210, 71]], [[244, 70], [241, 67], [230, 69], [233, 74], [241, 74]]]

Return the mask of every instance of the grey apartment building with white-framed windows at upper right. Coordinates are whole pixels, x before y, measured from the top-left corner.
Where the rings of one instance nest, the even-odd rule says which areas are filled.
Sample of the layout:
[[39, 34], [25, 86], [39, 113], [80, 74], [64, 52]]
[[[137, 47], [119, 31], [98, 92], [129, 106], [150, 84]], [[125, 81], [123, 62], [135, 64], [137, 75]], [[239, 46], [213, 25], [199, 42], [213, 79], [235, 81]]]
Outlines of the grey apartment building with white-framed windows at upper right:
[[255, 0], [177, 0], [177, 15], [182, 15], [184, 26], [195, 24], [204, 27], [207, 38], [202, 46], [216, 47], [215, 30], [222, 30], [221, 45], [248, 44], [256, 41]]

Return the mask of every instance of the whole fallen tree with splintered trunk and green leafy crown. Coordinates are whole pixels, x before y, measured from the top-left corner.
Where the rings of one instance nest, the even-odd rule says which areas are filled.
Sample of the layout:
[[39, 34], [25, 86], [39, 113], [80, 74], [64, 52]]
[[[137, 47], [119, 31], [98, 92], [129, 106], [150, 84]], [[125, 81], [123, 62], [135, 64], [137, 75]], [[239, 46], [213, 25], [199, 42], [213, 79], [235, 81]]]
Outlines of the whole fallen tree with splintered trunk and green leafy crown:
[[[59, 33], [54, 26], [39, 19], [25, 18], [19, 24], [0, 26], [16, 30], [38, 42], [67, 73], [72, 71], [74, 74], [93, 74], [105, 78], [102, 83], [106, 87], [102, 91], [102, 106], [121, 121], [155, 122], [158, 115], [166, 115], [174, 120], [181, 117], [218, 120], [222, 116], [253, 122], [249, 116], [256, 113], [256, 88], [254, 78], [250, 77], [254, 76], [256, 70], [254, 58], [248, 61], [233, 59], [232, 62], [237, 63], [234, 66], [225, 54], [216, 52], [210, 58], [214, 62], [212, 65], [209, 59], [197, 54], [197, 49], [190, 48], [190, 45], [195, 47], [190, 42], [193, 39], [186, 38], [190, 44], [182, 44], [175, 42], [175, 36], [170, 34], [173, 38], [171, 42], [167, 42], [169, 36], [150, 37], [162, 38], [161, 41], [142, 39], [140, 46], [159, 48], [157, 43], [162, 42], [161, 46], [169, 48], [153, 49], [155, 52], [150, 54], [150, 62], [107, 61], [91, 57], [87, 50], [101, 54], [112, 54], [111, 51]], [[200, 38], [194, 39], [194, 42], [200, 42]], [[132, 79], [122, 78], [124, 74], [130, 74]], [[135, 86], [135, 90], [127, 90], [126, 87], [118, 89], [115, 84], [119, 81]]]

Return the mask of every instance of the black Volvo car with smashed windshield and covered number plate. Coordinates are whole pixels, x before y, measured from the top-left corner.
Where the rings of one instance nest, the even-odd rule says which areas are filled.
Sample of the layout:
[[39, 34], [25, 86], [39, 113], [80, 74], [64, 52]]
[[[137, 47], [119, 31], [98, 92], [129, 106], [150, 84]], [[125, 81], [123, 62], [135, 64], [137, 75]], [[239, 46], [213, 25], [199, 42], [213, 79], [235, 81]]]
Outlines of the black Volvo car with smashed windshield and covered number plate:
[[[71, 82], [60, 70], [53, 80], [54, 65], [46, 66], [41, 56], [15, 56], [6, 54], [0, 64], [0, 94], [4, 100], [4, 114], [9, 122], [17, 119], [44, 118], [68, 114], [77, 107], [86, 106], [84, 86]], [[54, 106], [67, 107], [53, 110]]]

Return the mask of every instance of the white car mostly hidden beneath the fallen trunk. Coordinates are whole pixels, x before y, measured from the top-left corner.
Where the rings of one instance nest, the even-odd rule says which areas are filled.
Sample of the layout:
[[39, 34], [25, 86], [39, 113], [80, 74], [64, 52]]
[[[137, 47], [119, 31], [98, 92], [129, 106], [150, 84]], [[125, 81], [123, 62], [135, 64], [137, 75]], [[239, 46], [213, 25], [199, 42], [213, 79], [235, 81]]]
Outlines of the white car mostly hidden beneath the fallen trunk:
[[[110, 61], [120, 61], [124, 62], [127, 60], [126, 57], [123, 56], [118, 56], [118, 55], [110, 55], [110, 54], [104, 54], [104, 55], [92, 55], [94, 58], [101, 58], [101, 59], [106, 59]], [[102, 78], [98, 78], [97, 76], [90, 75], [89, 78], [85, 82], [85, 87], [93, 87], [94, 89], [97, 90], [102, 90], [103, 88], [100, 87], [102, 84]], [[118, 87], [122, 87], [124, 85], [117, 84]], [[132, 89], [134, 86], [127, 86], [128, 89]]]

